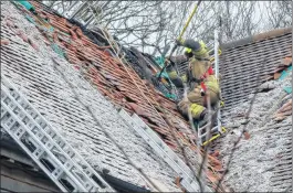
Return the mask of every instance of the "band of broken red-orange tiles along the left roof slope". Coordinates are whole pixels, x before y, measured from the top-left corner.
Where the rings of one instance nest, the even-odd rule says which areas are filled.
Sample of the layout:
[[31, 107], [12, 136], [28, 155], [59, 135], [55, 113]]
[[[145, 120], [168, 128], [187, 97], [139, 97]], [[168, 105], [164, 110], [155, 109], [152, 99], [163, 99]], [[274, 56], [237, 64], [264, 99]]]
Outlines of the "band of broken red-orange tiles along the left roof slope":
[[[63, 49], [69, 62], [82, 67], [85, 79], [95, 85], [103, 95], [108, 96], [114, 105], [124, 107], [128, 112], [135, 110], [142, 112], [140, 118], [163, 137], [163, 140], [170, 148], [181, 153], [175, 138], [179, 141], [186, 140], [182, 138], [188, 138], [186, 141], [189, 141], [193, 140], [193, 136], [190, 136], [191, 128], [177, 111], [176, 104], [158, 94], [151, 85], [146, 85], [130, 66], [126, 66], [118, 58], [107, 55], [105, 49], [113, 52], [109, 46], [101, 47], [94, 44], [76, 25], [48, 12], [39, 2], [31, 1], [31, 3], [36, 10], [42, 10], [43, 14], [40, 17], [49, 18], [49, 24], [54, 28], [56, 34], [54, 35], [55, 41], [52, 43]], [[51, 32], [43, 31], [43, 35], [46, 39]], [[180, 119], [180, 124], [168, 125], [159, 109], [164, 109], [168, 115]], [[176, 135], [172, 136], [170, 130], [174, 130]], [[184, 132], [186, 137], [179, 131]], [[187, 144], [193, 147], [193, 143], [187, 142]]]

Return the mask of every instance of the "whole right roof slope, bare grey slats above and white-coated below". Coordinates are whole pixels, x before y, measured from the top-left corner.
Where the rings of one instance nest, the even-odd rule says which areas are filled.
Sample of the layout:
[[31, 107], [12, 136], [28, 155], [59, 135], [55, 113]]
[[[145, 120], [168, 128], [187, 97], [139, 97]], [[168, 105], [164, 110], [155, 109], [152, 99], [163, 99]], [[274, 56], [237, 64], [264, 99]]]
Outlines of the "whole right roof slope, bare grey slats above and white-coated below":
[[[231, 43], [220, 56], [227, 104], [222, 121], [230, 132], [214, 143], [219, 159], [228, 162], [237, 133], [248, 133], [236, 147], [224, 178], [236, 192], [292, 191], [292, 93], [284, 89], [292, 81], [292, 33], [279, 32], [253, 43]], [[259, 78], [264, 75], [270, 81]]]

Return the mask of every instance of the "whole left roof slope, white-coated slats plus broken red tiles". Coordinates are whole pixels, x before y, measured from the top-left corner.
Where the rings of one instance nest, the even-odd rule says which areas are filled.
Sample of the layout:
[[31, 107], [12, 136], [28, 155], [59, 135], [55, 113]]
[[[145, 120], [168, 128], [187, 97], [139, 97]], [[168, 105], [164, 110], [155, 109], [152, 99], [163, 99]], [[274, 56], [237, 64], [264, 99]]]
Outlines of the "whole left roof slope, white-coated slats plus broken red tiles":
[[[154, 153], [115, 109], [119, 106], [128, 112], [136, 112], [182, 158], [176, 143], [180, 140], [191, 163], [198, 167], [193, 135], [176, 110], [175, 103], [143, 82], [129, 66], [107, 54], [104, 51], [107, 47], [94, 44], [79, 26], [42, 4], [32, 1], [36, 11], [42, 13], [41, 18], [48, 19], [49, 23], [34, 18], [25, 9], [15, 9], [8, 1], [1, 3], [1, 39], [9, 40], [8, 45], [1, 46], [1, 75], [15, 84], [97, 171], [106, 169], [113, 176], [149, 187], [147, 180], [104, 132], [106, 129], [148, 178], [163, 190], [178, 191], [176, 172]], [[70, 83], [80, 100], [94, 111], [98, 124], [79, 101]], [[167, 116], [164, 110], [168, 111]], [[221, 163], [212, 156], [208, 159], [210, 171], [206, 176], [209, 185], [214, 186]]]

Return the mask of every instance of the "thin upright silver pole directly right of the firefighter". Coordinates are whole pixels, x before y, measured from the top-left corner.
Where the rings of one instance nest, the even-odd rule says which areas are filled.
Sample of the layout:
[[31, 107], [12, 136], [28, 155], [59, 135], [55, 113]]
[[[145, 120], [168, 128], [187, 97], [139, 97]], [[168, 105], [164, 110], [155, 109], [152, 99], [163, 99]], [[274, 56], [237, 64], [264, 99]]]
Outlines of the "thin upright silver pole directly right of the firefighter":
[[[219, 83], [219, 32], [214, 30], [214, 72], [216, 78]], [[220, 83], [219, 83], [220, 84]], [[220, 110], [220, 103], [218, 103], [218, 111], [217, 111], [217, 124], [218, 124], [218, 131], [221, 132], [221, 110]]]

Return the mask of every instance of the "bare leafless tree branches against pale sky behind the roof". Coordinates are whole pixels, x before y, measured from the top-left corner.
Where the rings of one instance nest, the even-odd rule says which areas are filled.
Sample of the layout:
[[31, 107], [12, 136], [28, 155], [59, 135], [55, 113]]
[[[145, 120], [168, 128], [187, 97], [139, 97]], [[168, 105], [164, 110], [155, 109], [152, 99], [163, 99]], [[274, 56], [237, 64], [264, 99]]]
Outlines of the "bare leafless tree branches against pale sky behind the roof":
[[[121, 44], [153, 55], [172, 44], [195, 7], [192, 1], [43, 1], [88, 29], [106, 28]], [[184, 37], [213, 44], [221, 19], [222, 41], [292, 25], [291, 1], [202, 1]], [[211, 46], [212, 47], [212, 46]], [[177, 50], [180, 54], [182, 47]]]

